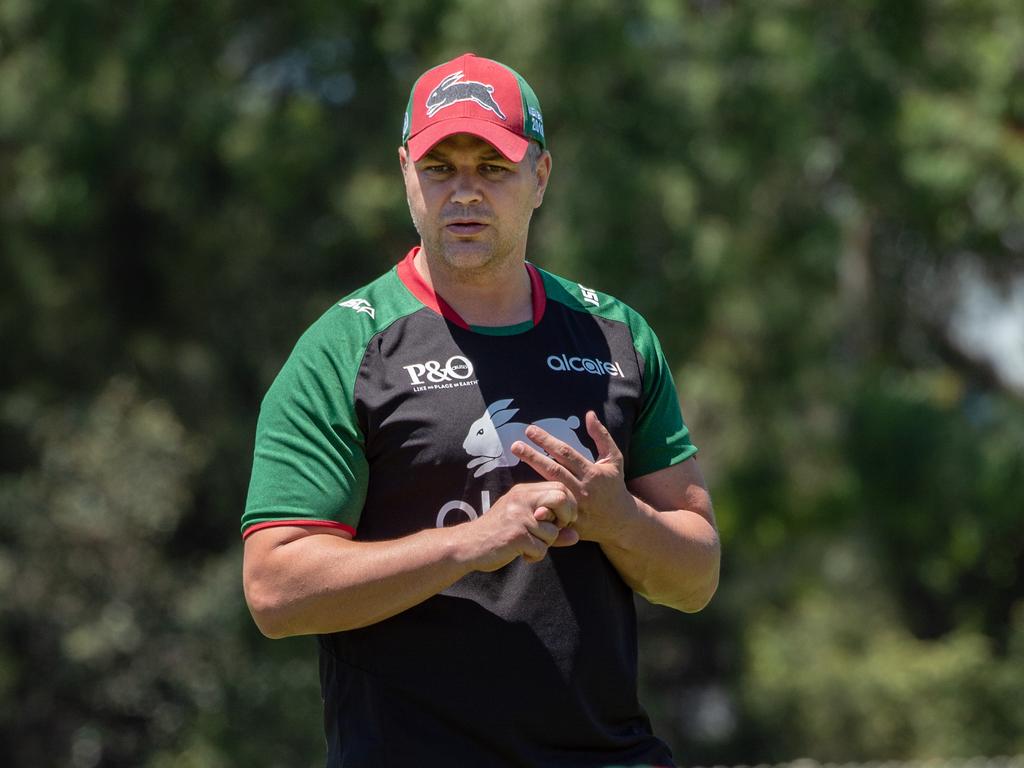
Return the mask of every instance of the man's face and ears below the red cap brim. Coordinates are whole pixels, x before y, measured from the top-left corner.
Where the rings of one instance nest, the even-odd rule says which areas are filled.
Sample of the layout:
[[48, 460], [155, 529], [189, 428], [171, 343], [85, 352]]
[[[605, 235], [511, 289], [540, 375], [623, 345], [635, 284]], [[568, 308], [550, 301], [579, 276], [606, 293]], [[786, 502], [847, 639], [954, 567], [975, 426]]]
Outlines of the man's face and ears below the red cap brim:
[[534, 209], [544, 200], [551, 156], [513, 163], [460, 133], [412, 163], [399, 147], [406, 197], [427, 253], [453, 269], [479, 271], [522, 260]]

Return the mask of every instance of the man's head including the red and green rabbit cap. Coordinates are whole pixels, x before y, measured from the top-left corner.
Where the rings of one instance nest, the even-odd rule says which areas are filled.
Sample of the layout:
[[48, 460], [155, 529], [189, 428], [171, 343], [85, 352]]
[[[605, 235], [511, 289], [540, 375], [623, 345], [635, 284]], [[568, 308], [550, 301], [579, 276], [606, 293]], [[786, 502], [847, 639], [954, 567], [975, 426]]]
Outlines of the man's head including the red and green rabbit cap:
[[469, 274], [525, 258], [551, 172], [543, 126], [532, 89], [497, 61], [467, 53], [416, 82], [398, 158], [413, 221], [438, 265]]

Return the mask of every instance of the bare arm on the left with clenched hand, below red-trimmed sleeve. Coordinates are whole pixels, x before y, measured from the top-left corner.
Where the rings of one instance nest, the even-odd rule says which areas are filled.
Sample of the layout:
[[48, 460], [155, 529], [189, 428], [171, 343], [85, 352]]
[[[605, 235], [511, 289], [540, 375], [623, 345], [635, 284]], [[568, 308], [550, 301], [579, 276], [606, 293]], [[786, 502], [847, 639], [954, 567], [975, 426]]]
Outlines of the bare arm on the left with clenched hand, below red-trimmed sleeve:
[[[497, 570], [579, 537], [572, 495], [560, 482], [514, 486], [472, 522], [387, 542], [331, 528], [283, 525], [246, 539], [246, 601], [267, 637], [366, 627], [406, 610], [472, 570]], [[564, 530], [563, 530], [564, 528]]]

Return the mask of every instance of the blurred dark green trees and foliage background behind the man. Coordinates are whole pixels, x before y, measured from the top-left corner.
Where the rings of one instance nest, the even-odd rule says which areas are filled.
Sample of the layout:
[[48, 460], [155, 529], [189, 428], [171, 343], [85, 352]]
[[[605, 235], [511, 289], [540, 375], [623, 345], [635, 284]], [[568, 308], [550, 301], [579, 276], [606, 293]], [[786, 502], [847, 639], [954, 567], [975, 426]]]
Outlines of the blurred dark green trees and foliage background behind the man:
[[416, 242], [409, 89], [545, 112], [532, 260], [654, 327], [723, 581], [641, 605], [685, 765], [1024, 753], [1019, 0], [2, 0], [0, 756], [315, 766], [240, 586], [256, 415]]

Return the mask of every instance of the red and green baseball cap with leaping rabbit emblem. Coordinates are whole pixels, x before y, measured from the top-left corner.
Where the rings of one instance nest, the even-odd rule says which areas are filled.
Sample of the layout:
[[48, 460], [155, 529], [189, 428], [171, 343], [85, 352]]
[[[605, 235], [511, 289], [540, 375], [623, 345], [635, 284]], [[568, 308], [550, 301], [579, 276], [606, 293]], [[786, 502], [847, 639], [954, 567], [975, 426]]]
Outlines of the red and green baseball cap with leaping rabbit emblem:
[[456, 133], [471, 133], [518, 163], [530, 139], [544, 146], [541, 102], [515, 70], [463, 53], [420, 76], [409, 94], [401, 142], [413, 162]]

